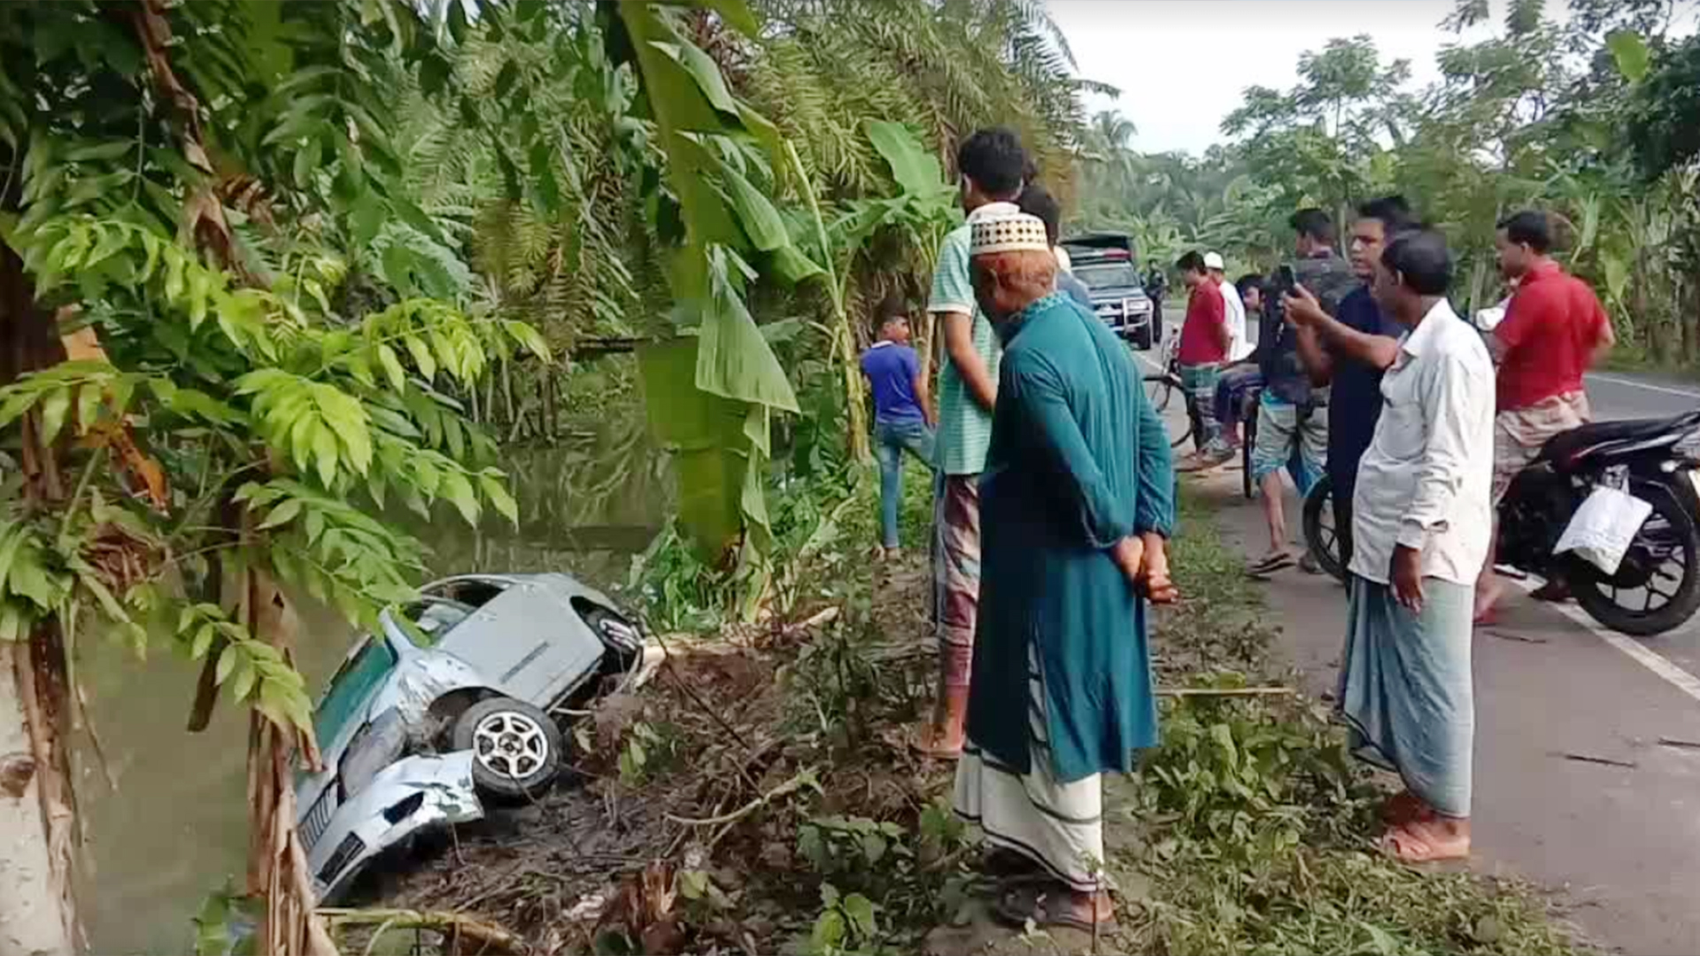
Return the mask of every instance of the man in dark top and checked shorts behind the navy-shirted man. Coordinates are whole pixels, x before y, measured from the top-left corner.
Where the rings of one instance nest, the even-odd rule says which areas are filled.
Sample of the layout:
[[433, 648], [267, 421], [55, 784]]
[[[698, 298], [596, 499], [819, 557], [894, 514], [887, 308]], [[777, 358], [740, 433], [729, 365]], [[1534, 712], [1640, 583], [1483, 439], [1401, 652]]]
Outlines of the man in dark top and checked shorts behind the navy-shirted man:
[[1334, 315], [1340, 301], [1358, 286], [1352, 267], [1334, 253], [1334, 221], [1321, 209], [1299, 209], [1289, 219], [1297, 240], [1297, 257], [1275, 270], [1268, 303], [1258, 323], [1258, 367], [1263, 393], [1258, 398], [1258, 439], [1251, 451], [1251, 481], [1261, 492], [1270, 549], [1248, 568], [1272, 575], [1294, 565], [1287, 543], [1285, 487], [1280, 471], [1297, 456], [1294, 483], [1299, 497], [1323, 475], [1328, 461], [1328, 390], [1312, 388], [1299, 357], [1299, 335], [1287, 327], [1282, 301], [1304, 286]]

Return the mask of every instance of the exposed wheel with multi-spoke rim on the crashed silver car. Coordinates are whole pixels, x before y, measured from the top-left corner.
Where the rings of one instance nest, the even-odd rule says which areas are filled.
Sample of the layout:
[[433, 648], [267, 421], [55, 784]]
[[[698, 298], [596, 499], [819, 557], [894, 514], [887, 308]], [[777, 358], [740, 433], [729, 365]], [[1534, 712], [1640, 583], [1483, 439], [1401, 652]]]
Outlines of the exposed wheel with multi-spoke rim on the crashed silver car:
[[561, 774], [561, 728], [542, 708], [513, 697], [466, 708], [450, 743], [473, 752], [473, 786], [502, 801], [537, 794]]

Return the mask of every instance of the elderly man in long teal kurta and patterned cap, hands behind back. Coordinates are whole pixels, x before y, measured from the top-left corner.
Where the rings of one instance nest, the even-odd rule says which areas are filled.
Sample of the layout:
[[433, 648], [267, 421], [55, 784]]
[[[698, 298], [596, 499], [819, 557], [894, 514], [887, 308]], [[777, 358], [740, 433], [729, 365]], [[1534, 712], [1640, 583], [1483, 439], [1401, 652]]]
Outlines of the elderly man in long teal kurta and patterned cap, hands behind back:
[[1175, 599], [1170, 444], [1127, 349], [1056, 293], [1039, 219], [976, 223], [972, 257], [1005, 352], [955, 808], [984, 830], [989, 864], [1025, 871], [1001, 915], [1103, 927], [1100, 774], [1156, 743], [1146, 597]]

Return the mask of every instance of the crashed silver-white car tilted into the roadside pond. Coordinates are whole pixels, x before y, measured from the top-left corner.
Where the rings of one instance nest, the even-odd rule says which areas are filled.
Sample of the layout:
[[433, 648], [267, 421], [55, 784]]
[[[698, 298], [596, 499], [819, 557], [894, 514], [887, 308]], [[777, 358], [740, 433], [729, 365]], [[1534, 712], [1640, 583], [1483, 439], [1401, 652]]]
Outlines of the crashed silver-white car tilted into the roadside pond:
[[440, 580], [379, 624], [314, 708], [325, 769], [296, 779], [321, 902], [389, 847], [549, 786], [564, 757], [554, 713], [644, 660], [638, 626], [563, 573]]

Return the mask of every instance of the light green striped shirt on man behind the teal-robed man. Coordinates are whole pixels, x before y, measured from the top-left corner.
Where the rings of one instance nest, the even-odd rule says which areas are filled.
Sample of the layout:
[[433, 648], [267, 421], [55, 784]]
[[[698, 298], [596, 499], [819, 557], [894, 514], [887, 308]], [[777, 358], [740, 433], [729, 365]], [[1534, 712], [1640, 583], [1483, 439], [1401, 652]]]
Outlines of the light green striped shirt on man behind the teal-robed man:
[[[991, 213], [1012, 213], [1013, 202], [989, 202], [969, 216], [972, 223], [978, 216]], [[1003, 345], [991, 322], [981, 315], [974, 304], [974, 286], [969, 281], [969, 236], [967, 223], [957, 226], [938, 247], [938, 265], [933, 269], [933, 291], [926, 303], [932, 313], [959, 313], [974, 318], [971, 333], [974, 352], [986, 362], [986, 374], [998, 381], [998, 361], [1003, 357]], [[942, 333], [942, 330], [940, 330]], [[986, 469], [986, 447], [991, 446], [991, 412], [974, 401], [967, 383], [950, 361], [945, 350], [938, 373], [938, 452], [937, 466], [945, 475], [979, 475]]]

